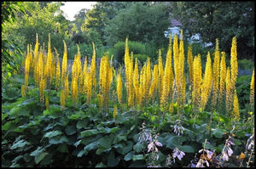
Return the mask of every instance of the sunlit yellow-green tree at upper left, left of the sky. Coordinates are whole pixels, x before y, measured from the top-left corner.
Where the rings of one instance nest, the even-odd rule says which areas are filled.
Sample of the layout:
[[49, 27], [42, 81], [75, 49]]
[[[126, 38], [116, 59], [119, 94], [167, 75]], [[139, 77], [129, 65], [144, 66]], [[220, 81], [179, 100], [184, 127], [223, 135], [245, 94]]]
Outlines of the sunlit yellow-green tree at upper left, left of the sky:
[[62, 15], [61, 3], [24, 2], [23, 6], [26, 14], [16, 13], [16, 21], [13, 25], [6, 25], [3, 37], [19, 43], [21, 48], [26, 48], [27, 44], [35, 44], [38, 33], [39, 42], [45, 42], [46, 48], [50, 34], [52, 46], [63, 51], [62, 40], [69, 22]]

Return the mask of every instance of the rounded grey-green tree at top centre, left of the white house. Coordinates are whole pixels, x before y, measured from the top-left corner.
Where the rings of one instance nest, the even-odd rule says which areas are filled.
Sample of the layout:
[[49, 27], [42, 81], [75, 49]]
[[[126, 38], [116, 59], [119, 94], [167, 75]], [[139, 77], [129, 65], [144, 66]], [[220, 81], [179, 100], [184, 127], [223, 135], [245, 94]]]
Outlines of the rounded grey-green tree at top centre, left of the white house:
[[119, 10], [105, 29], [105, 40], [109, 45], [124, 41], [154, 42], [160, 45], [166, 41], [164, 31], [170, 25], [165, 3], [132, 3], [129, 8]]

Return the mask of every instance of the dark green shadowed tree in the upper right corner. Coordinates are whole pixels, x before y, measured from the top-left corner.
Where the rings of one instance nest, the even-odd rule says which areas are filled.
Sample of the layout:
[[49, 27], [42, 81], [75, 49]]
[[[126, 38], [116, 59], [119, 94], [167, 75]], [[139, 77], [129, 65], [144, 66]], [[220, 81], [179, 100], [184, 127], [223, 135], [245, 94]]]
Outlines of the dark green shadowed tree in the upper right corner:
[[191, 37], [200, 33], [204, 42], [215, 43], [230, 53], [237, 38], [239, 58], [254, 57], [254, 2], [173, 2], [172, 13]]

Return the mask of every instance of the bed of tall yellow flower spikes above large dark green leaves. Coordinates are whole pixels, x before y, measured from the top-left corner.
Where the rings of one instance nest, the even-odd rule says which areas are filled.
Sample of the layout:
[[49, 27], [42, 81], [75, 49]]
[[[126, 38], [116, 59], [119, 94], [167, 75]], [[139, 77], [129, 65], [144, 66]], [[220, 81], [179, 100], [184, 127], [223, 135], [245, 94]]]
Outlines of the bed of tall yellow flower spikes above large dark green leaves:
[[159, 50], [157, 64], [138, 65], [128, 44], [119, 70], [108, 55], [97, 64], [94, 43], [84, 63], [78, 46], [72, 67], [65, 42], [62, 59], [50, 37], [47, 50], [38, 37], [28, 45], [24, 79], [3, 90], [2, 166], [254, 165], [254, 70], [241, 117], [236, 37], [230, 66], [216, 39], [204, 71], [191, 46], [185, 56], [183, 31], [170, 37], [165, 63]]

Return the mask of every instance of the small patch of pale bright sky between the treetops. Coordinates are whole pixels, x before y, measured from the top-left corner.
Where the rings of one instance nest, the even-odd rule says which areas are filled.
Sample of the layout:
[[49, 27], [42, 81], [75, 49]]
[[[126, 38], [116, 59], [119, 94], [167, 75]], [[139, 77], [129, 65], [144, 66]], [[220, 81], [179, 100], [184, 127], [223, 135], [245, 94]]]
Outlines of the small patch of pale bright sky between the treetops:
[[73, 16], [82, 8], [92, 8], [96, 2], [62, 2], [65, 5], [61, 6], [61, 10], [67, 15], [67, 20], [74, 20]]

